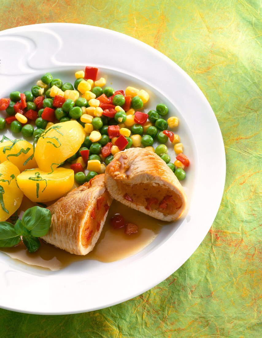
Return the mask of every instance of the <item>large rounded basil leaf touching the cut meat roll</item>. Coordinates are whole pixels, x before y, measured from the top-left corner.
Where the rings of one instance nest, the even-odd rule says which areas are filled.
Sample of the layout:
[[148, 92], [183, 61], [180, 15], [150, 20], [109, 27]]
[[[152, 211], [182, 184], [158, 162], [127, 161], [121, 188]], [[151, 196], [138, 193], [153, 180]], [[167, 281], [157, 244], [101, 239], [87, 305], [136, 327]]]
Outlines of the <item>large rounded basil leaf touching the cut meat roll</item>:
[[22, 223], [32, 236], [45, 236], [51, 225], [51, 212], [38, 206], [27, 209], [23, 215]]

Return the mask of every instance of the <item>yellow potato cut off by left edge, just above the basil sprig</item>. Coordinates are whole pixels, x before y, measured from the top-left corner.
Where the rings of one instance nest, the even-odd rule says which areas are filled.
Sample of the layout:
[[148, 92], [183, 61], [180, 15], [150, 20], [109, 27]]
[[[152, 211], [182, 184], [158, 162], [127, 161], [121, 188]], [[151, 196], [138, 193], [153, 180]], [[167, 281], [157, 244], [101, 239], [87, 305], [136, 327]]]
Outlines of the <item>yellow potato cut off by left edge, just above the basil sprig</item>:
[[[11, 177], [11, 175], [15, 177]], [[11, 162], [5, 161], [0, 164], [0, 221], [6, 221], [20, 207], [23, 192], [17, 187], [16, 177], [20, 174], [19, 169]], [[5, 181], [6, 182], [3, 182]]]

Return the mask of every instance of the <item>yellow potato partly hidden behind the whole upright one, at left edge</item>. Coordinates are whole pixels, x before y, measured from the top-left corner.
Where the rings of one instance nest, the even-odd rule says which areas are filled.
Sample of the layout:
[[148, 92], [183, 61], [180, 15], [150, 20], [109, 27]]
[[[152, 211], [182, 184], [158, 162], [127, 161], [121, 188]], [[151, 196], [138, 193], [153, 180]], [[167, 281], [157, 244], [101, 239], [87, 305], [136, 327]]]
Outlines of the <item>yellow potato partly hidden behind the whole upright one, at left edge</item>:
[[[13, 145], [14, 144], [14, 145]], [[12, 146], [13, 145], [13, 146]], [[29, 150], [28, 150], [29, 148]], [[9, 150], [10, 149], [10, 150]], [[26, 152], [23, 153], [23, 151]], [[21, 151], [18, 156], [9, 156], [9, 155], [16, 155]], [[33, 146], [31, 143], [24, 141], [24, 140], [16, 140], [13, 141], [6, 141], [0, 143], [0, 163], [5, 161], [10, 161], [15, 166], [18, 167], [20, 171], [24, 171], [26, 169], [37, 168], [36, 161], [33, 157], [32, 160], [29, 160], [26, 165], [24, 165], [25, 161], [33, 154]]]

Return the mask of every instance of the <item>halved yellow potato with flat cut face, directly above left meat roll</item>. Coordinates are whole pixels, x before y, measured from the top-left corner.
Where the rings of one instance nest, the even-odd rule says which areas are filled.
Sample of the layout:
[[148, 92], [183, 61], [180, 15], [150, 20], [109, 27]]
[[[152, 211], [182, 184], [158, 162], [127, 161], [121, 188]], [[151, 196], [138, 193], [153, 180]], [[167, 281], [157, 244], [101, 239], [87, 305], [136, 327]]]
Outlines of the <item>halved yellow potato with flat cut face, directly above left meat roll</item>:
[[50, 202], [66, 194], [74, 184], [74, 171], [56, 168], [50, 174], [40, 168], [17, 176], [17, 184], [32, 202]]

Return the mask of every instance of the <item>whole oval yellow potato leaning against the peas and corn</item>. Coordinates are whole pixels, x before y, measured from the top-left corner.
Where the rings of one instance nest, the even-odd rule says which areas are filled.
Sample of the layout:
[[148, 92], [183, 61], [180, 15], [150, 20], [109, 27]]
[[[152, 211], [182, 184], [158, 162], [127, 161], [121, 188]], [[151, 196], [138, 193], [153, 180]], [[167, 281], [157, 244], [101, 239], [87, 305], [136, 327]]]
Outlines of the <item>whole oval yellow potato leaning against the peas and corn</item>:
[[84, 128], [77, 121], [52, 125], [37, 141], [34, 157], [38, 167], [43, 171], [51, 172], [74, 155], [84, 139]]

